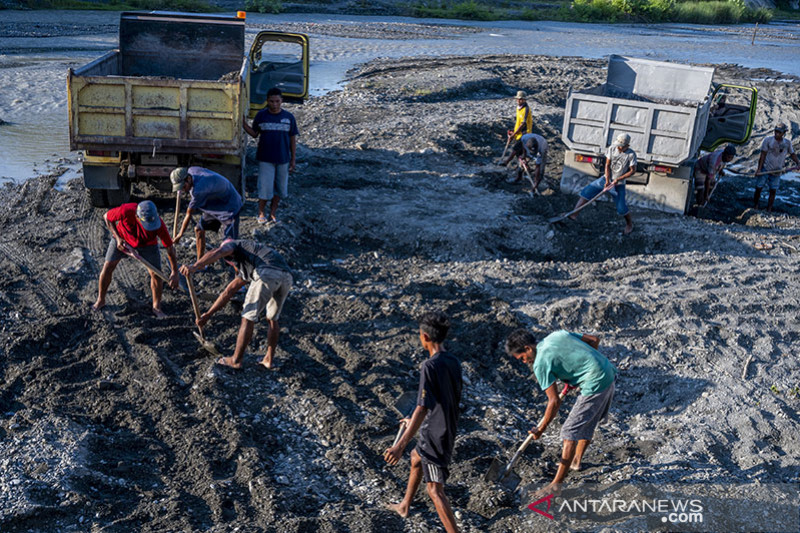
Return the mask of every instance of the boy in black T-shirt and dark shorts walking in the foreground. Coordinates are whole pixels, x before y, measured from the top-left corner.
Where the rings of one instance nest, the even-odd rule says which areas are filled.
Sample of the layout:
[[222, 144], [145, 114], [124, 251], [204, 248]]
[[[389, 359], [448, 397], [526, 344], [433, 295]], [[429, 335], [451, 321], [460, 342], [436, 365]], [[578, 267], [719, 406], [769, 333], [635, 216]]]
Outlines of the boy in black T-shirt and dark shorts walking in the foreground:
[[411, 473], [403, 501], [388, 508], [403, 518], [421, 479], [425, 479], [428, 496], [447, 533], [457, 533], [458, 527], [444, 494], [447, 466], [453, 455], [458, 424], [458, 404], [461, 401], [461, 363], [444, 349], [450, 329], [450, 319], [441, 312], [425, 313], [419, 321], [419, 338], [430, 359], [420, 366], [417, 408], [407, 421], [407, 430], [397, 444], [384, 452], [384, 459], [396, 465], [403, 451], [419, 430], [417, 447], [411, 452]]

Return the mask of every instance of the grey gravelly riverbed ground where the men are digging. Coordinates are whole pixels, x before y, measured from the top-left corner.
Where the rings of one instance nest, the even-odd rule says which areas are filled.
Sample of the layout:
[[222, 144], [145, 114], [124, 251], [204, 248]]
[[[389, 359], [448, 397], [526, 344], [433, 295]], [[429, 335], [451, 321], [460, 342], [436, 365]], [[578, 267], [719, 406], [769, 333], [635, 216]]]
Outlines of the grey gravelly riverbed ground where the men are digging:
[[[603, 202], [576, 223], [548, 226], [575, 202], [558, 187], [567, 90], [596, 85], [603, 66], [519, 56], [374, 62], [345, 90], [292, 108], [301, 145], [281, 222], [255, 224], [252, 198], [242, 219], [243, 236], [275, 246], [295, 271], [272, 372], [256, 366], [264, 324], [243, 371], [215, 368], [191, 335], [187, 295], [167, 291], [170, 317], [156, 320], [146, 274], [131, 262], [117, 270], [107, 309], [90, 312], [108, 242], [103, 211], [80, 180], [54, 189], [58, 172], [6, 185], [0, 529], [437, 531], [424, 491], [406, 520], [382, 510], [405, 487], [407, 460], [387, 467], [382, 452], [397, 428], [394, 399], [416, 387], [415, 318], [430, 309], [451, 315], [449, 347], [466, 377], [446, 489], [463, 531], [577, 527], [526, 509], [555, 472], [565, 410], [522, 457], [519, 491], [483, 481], [544, 408], [530, 371], [503, 355], [517, 327], [596, 334], [620, 369], [610, 420], [572, 483], [713, 481], [731, 498], [737, 484], [796, 487], [800, 206], [754, 211], [749, 178], [730, 177], [703, 218], [634, 209], [636, 228], [623, 237]], [[717, 81], [786, 79], [717, 72]], [[797, 80], [758, 86], [742, 169], [778, 117], [795, 135], [800, 123]], [[538, 197], [491, 164], [518, 89], [551, 146]], [[798, 193], [800, 184], [784, 186]], [[169, 213], [173, 203], [158, 205]], [[182, 261], [191, 244], [182, 243]], [[226, 275], [199, 275], [202, 306]], [[207, 329], [226, 353], [239, 311], [229, 306]], [[782, 510], [791, 529], [797, 504]], [[612, 529], [644, 529], [615, 520]]]

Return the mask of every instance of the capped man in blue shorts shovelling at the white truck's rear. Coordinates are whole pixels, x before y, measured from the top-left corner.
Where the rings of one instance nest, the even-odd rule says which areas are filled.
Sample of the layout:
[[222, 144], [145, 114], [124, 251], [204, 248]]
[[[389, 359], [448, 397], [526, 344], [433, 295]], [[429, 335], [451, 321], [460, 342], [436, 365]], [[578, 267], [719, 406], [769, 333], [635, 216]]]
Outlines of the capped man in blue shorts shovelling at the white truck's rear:
[[[636, 152], [631, 147], [631, 136], [627, 133], [617, 135], [614, 145], [606, 153], [606, 168], [603, 177], [597, 178], [581, 191], [581, 197], [575, 204], [575, 209], [579, 208], [609, 185], [613, 185], [612, 196], [616, 196], [617, 214], [625, 217], [625, 230], [623, 233], [628, 235], [633, 231], [633, 220], [631, 220], [628, 204], [625, 202], [625, 180], [636, 172]], [[569, 217], [572, 220], [578, 218], [578, 214]]]

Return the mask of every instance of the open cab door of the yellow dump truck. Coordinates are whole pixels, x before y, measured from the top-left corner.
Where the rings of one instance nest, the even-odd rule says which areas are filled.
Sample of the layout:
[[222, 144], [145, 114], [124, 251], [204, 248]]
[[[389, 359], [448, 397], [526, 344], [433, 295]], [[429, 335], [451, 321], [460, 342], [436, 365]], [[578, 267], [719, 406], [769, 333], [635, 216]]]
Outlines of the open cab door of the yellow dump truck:
[[277, 87], [286, 102], [308, 96], [308, 36], [262, 31], [250, 48], [250, 117], [267, 106], [267, 91]]

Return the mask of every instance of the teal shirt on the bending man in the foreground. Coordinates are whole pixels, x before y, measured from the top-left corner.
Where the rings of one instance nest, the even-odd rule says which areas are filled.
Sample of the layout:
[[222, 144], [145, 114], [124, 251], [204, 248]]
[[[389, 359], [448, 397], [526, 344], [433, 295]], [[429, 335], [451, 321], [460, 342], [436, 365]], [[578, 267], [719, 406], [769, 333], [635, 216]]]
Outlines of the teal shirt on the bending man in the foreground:
[[561, 330], [551, 333], [536, 345], [533, 374], [542, 390], [558, 379], [580, 387], [581, 395], [590, 396], [603, 392], [614, 381], [617, 369], [581, 337]]

